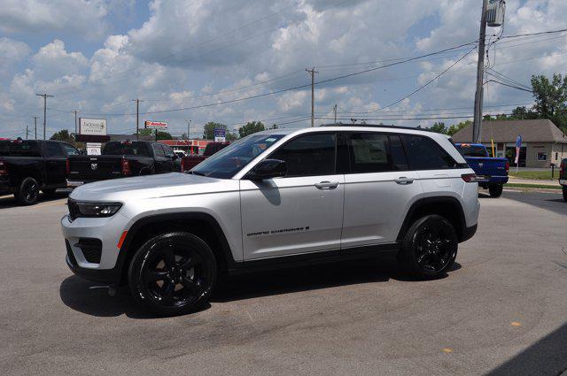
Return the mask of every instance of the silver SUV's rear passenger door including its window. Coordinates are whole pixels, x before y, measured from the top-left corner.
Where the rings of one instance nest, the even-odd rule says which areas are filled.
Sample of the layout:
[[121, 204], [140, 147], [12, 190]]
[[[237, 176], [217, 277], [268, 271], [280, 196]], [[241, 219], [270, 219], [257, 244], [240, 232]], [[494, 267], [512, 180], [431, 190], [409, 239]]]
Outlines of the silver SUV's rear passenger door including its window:
[[[423, 196], [398, 134], [343, 133], [345, 215], [341, 247], [396, 241], [409, 206]], [[354, 250], [352, 250], [354, 251]]]

